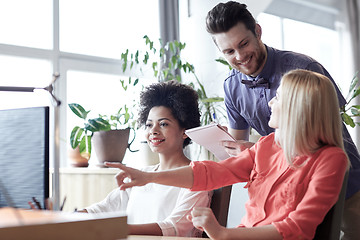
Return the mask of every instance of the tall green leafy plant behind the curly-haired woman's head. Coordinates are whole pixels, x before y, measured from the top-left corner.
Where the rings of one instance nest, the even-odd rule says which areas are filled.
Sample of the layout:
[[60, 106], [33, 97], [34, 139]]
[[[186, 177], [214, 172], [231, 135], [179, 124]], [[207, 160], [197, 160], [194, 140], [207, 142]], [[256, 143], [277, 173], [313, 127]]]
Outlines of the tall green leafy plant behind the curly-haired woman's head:
[[[170, 41], [165, 44], [159, 40], [159, 47], [155, 47], [155, 43], [150, 40], [148, 36], [144, 36], [145, 45], [147, 46], [144, 52], [139, 50], [130, 53], [126, 50], [121, 55], [122, 70], [125, 72], [127, 68], [130, 70], [135, 66], [151, 66], [153, 76], [158, 81], [169, 81], [176, 79], [182, 81], [182, 74], [191, 76], [189, 78], [194, 81], [189, 82], [199, 95], [200, 110], [202, 112], [201, 122], [206, 125], [215, 120], [226, 119], [226, 111], [223, 107], [224, 99], [222, 97], [209, 97], [206, 93], [205, 87], [199, 80], [195, 73], [195, 68], [192, 64], [185, 61], [181, 57], [181, 52], [185, 49], [186, 44], [178, 41]], [[140, 72], [143, 72], [143, 67], [140, 67]], [[136, 78], [138, 81], [139, 78]]]

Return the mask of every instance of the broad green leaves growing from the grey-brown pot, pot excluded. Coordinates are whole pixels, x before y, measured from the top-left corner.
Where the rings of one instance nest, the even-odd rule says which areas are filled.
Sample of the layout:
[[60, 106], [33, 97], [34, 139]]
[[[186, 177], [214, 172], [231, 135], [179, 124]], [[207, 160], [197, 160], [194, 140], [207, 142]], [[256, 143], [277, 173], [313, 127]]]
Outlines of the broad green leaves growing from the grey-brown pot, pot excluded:
[[88, 119], [90, 111], [86, 111], [78, 103], [68, 104], [71, 111], [84, 120], [82, 127], [75, 126], [70, 134], [70, 146], [75, 149], [79, 146], [81, 156], [89, 159], [91, 156], [91, 138], [94, 132], [110, 131], [113, 129], [134, 128], [134, 115], [129, 111], [129, 108], [124, 105], [114, 115], [100, 115], [97, 118]]

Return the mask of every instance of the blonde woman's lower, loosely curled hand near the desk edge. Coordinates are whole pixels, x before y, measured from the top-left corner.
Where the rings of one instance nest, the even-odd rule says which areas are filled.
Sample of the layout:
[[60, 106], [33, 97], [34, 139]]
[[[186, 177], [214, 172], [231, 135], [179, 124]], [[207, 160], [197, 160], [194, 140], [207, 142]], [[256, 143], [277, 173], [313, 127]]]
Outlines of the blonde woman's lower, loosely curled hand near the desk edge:
[[222, 227], [216, 220], [211, 208], [195, 207], [188, 216], [194, 227], [205, 231], [211, 239], [221, 239], [219, 235], [223, 231]]

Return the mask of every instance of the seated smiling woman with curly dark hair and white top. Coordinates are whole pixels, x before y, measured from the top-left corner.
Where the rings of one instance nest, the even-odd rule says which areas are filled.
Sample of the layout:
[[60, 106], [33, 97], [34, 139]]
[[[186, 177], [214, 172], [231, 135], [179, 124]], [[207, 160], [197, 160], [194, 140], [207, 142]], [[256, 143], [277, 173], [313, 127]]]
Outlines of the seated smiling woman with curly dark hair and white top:
[[[159, 164], [144, 171], [162, 171], [189, 166], [183, 148], [190, 143], [185, 130], [200, 125], [198, 95], [190, 86], [169, 81], [148, 86], [140, 95], [140, 117], [145, 137]], [[129, 234], [201, 237], [186, 219], [194, 207], [209, 207], [211, 192], [147, 184], [122, 191], [113, 190], [87, 212], [126, 211]]]

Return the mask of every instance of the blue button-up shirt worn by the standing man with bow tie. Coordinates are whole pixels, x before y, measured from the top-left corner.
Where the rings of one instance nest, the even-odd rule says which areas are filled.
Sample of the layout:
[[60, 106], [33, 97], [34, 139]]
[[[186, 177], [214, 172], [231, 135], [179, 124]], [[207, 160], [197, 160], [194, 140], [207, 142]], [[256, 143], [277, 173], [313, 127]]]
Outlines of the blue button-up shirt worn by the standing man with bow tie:
[[[334, 83], [339, 105], [343, 106], [346, 103], [334, 80], [320, 63], [304, 54], [280, 51], [268, 46], [266, 49], [265, 66], [255, 79], [233, 69], [224, 82], [225, 105], [231, 128], [243, 130], [252, 127], [263, 136], [273, 132], [274, 129], [268, 125], [271, 114], [268, 102], [276, 95], [281, 77], [293, 69], [307, 69], [327, 76]], [[241, 83], [242, 79], [257, 80], [258, 78], [268, 79], [270, 88], [248, 88]], [[345, 150], [352, 165], [346, 193], [346, 198], [349, 198], [360, 190], [360, 156], [345, 125], [343, 137]]]

